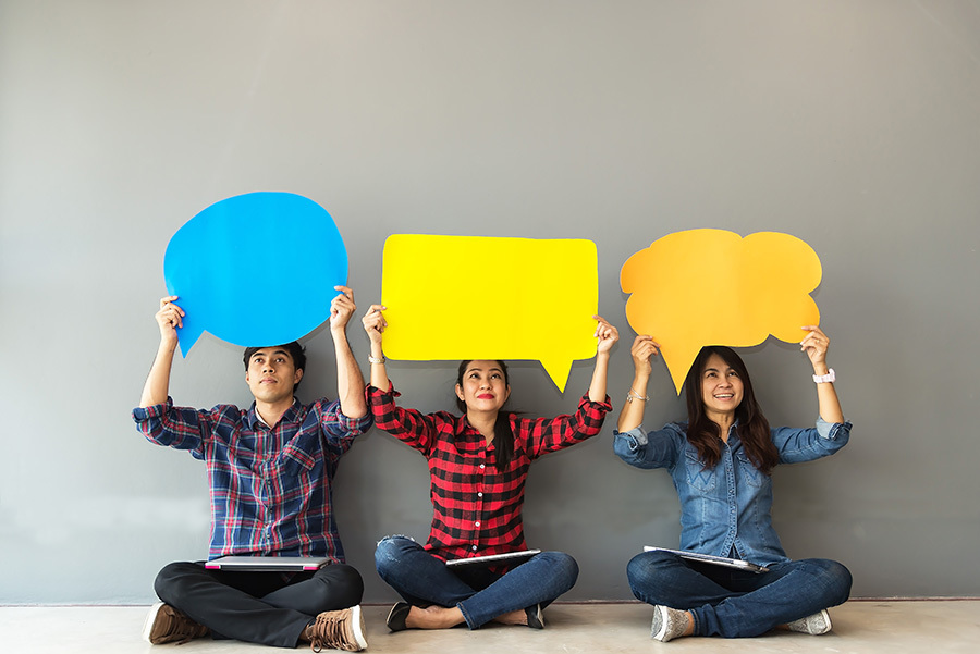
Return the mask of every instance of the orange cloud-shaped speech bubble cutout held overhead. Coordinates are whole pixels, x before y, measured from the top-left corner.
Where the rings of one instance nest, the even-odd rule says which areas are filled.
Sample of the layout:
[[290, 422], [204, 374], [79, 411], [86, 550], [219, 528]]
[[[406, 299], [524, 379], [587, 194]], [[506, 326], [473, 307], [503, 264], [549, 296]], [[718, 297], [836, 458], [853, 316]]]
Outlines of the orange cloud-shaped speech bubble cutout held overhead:
[[620, 285], [632, 294], [626, 320], [660, 344], [677, 394], [705, 345], [747, 347], [772, 334], [798, 343], [818, 324], [810, 297], [822, 269], [795, 236], [724, 230], [669, 234], [626, 260]]

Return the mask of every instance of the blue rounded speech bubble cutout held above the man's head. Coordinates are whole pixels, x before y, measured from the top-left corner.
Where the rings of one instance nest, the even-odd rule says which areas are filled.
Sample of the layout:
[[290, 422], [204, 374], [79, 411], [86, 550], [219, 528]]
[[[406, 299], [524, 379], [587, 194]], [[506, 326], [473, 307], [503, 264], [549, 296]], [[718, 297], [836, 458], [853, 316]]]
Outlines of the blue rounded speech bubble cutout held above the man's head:
[[215, 202], [182, 226], [163, 256], [167, 291], [186, 316], [181, 353], [200, 335], [241, 345], [296, 341], [330, 316], [347, 282], [347, 250], [333, 219], [292, 193]]

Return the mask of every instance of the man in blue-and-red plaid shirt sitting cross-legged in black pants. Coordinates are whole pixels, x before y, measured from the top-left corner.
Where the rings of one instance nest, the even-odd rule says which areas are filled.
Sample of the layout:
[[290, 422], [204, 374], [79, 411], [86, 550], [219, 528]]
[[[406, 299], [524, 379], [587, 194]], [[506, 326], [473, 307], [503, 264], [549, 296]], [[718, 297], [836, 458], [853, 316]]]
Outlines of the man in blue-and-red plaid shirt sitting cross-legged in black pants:
[[212, 633], [216, 638], [283, 647], [309, 642], [357, 651], [367, 646], [360, 615], [364, 582], [344, 564], [331, 482], [338, 461], [371, 417], [364, 380], [346, 338], [355, 310], [350, 288], [338, 286], [330, 331], [340, 399], [303, 405], [295, 397], [306, 355], [298, 343], [245, 350], [245, 381], [255, 403], [212, 409], [174, 407], [168, 395], [184, 316], [175, 296], [160, 300], [160, 346], [139, 407], [137, 428], [152, 443], [187, 449], [207, 466], [211, 496], [209, 559], [225, 555], [320, 556], [316, 572], [247, 572], [174, 563], [157, 576], [163, 602], [147, 616], [154, 644]]

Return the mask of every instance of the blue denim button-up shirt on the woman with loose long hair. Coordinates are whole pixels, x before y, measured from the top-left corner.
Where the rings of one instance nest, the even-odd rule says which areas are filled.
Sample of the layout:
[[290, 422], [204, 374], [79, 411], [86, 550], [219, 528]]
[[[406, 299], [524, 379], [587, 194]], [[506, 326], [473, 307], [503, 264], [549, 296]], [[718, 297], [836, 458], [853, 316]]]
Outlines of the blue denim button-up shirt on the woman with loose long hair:
[[[659, 431], [642, 425], [613, 432], [616, 455], [637, 468], [666, 468], [681, 497], [681, 548], [732, 556], [759, 565], [789, 560], [772, 527], [772, 478], [751, 464], [735, 425], [722, 444], [718, 465], [706, 470], [687, 441], [687, 423]], [[811, 461], [847, 444], [850, 423], [817, 418], [817, 428], [780, 427], [772, 442], [781, 464]]]

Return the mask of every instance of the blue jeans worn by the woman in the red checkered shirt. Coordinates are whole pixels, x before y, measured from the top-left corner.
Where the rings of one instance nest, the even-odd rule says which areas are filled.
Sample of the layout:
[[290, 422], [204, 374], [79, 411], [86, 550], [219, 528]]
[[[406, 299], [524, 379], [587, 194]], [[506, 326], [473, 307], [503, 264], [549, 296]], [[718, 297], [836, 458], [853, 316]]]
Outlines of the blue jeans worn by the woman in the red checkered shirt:
[[405, 602], [457, 606], [470, 629], [518, 608], [547, 606], [578, 579], [578, 564], [562, 552], [542, 552], [504, 573], [482, 566], [454, 570], [406, 536], [382, 539], [375, 565]]

